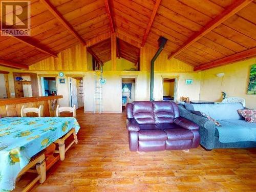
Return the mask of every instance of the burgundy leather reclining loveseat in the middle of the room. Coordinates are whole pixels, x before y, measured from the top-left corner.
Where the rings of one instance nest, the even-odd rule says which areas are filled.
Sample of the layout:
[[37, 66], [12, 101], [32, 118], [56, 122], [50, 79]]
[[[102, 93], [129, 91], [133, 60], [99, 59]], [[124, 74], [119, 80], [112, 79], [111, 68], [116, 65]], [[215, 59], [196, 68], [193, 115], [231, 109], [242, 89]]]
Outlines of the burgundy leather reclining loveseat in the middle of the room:
[[180, 117], [175, 102], [127, 103], [126, 117], [130, 151], [187, 150], [199, 145], [199, 126]]

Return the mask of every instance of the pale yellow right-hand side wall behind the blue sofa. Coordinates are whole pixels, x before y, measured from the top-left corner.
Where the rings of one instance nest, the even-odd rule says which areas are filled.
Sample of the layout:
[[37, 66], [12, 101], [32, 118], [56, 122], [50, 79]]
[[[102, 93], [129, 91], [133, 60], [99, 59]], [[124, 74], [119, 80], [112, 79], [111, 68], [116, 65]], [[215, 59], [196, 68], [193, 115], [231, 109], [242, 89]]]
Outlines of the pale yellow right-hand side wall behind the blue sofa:
[[[256, 109], [256, 95], [247, 95], [250, 66], [256, 59], [247, 59], [231, 65], [202, 71], [200, 99], [221, 101], [221, 92], [227, 97], [242, 97], [246, 100], [246, 107]], [[225, 73], [217, 77], [217, 73]]]

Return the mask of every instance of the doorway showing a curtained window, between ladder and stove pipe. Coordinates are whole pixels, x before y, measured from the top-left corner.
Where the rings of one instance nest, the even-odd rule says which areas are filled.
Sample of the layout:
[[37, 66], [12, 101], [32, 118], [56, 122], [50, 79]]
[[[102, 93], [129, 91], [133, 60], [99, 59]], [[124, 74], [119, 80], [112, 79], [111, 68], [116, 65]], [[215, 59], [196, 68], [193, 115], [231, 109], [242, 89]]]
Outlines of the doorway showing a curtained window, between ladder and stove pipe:
[[122, 78], [122, 112], [127, 103], [135, 101], [136, 78]]

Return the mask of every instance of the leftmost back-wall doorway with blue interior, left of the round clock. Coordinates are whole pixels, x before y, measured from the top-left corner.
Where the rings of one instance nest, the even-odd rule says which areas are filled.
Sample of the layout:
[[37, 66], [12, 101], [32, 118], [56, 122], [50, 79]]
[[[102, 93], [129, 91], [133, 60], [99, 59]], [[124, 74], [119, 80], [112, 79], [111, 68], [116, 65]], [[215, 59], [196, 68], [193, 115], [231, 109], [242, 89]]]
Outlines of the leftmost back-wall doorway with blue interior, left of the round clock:
[[42, 96], [57, 95], [56, 77], [41, 77]]

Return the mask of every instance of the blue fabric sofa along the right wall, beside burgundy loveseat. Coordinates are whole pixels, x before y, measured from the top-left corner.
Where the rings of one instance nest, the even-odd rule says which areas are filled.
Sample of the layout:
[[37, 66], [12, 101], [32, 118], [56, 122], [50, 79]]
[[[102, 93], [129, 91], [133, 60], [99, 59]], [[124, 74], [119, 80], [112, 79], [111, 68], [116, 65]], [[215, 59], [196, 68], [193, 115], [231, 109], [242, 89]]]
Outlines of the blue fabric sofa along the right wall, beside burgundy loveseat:
[[[256, 147], [256, 123], [246, 122], [237, 110], [241, 103], [214, 103], [179, 105], [180, 115], [200, 126], [200, 144], [207, 150], [213, 148]], [[192, 113], [200, 111], [218, 120], [222, 126]]]

